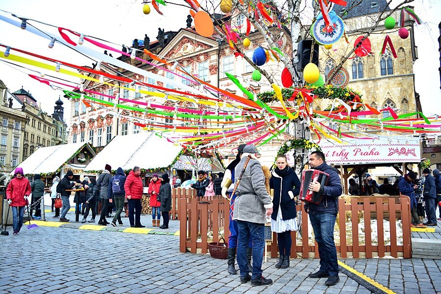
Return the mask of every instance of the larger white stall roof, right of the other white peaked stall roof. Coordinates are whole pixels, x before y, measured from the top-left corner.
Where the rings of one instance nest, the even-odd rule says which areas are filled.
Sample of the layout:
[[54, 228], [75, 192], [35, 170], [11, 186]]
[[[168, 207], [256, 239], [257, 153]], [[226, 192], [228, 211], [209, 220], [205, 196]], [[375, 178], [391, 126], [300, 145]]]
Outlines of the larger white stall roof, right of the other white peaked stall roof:
[[154, 132], [115, 136], [84, 168], [85, 172], [102, 171], [106, 164], [116, 170], [160, 169], [168, 167], [182, 150], [164, 136]]

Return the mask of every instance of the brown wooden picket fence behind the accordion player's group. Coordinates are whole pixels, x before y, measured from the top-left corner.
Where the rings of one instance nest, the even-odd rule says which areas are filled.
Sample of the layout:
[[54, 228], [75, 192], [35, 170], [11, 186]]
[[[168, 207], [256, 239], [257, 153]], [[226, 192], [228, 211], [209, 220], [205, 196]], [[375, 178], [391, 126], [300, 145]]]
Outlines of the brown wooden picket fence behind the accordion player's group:
[[[190, 251], [192, 253], [208, 252], [209, 242], [218, 242], [220, 236], [223, 236], [225, 242], [228, 243], [229, 236], [229, 203], [226, 199], [213, 199], [199, 201], [196, 198], [180, 198], [179, 203], [179, 219], [180, 219], [180, 240], [179, 250], [181, 252]], [[399, 203], [395, 203], [399, 202]], [[317, 243], [310, 244], [308, 238], [309, 228], [308, 214], [303, 210], [303, 205], [296, 206], [297, 211], [301, 213], [301, 240], [296, 241], [296, 232], [292, 232], [293, 246], [291, 247], [292, 258], [318, 258], [319, 251]], [[359, 234], [358, 213], [364, 212], [363, 223], [365, 227], [364, 233]], [[352, 237], [346, 234], [346, 212], [351, 212]], [[372, 244], [371, 233], [371, 213], [376, 213], [377, 221], [377, 244]], [[387, 213], [389, 220], [385, 220], [384, 215]], [[402, 223], [402, 245], [398, 244], [396, 232], [397, 219]], [[385, 243], [385, 231], [383, 221], [389, 222], [390, 225], [390, 244]], [[359, 198], [352, 200], [351, 204], [345, 204], [343, 199], [339, 199], [339, 215], [337, 223], [340, 228], [340, 238], [335, 238], [336, 248], [341, 258], [372, 258], [374, 256], [384, 257], [390, 255], [392, 257], [402, 256], [411, 258], [411, 232], [410, 232], [410, 200], [407, 196], [400, 196], [399, 201], [396, 198], [378, 198], [372, 201], [372, 198]], [[223, 233], [220, 234], [221, 230]], [[208, 232], [213, 233], [212, 241], [208, 238]], [[272, 233], [272, 242], [267, 243], [267, 249], [271, 252], [271, 257], [277, 257], [277, 235]], [[364, 239], [364, 244], [360, 244], [360, 239]]]

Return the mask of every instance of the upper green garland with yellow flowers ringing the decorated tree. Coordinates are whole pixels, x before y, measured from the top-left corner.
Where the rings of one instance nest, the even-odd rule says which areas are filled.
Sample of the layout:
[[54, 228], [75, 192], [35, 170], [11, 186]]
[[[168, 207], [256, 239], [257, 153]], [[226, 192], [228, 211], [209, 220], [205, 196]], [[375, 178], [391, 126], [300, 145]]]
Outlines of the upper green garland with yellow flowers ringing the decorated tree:
[[[326, 85], [326, 86], [305, 86], [304, 89], [312, 90], [311, 94], [314, 94], [318, 96], [319, 98], [329, 98], [329, 99], [335, 99], [339, 98], [342, 99], [345, 102], [352, 102], [354, 99], [359, 100], [359, 103], [363, 103], [362, 95], [356, 91], [354, 91], [351, 88], [339, 88], [334, 87], [332, 85]], [[282, 98], [283, 100], [288, 100], [293, 96], [294, 88], [289, 89], [282, 89]], [[257, 95], [257, 98], [259, 98], [264, 103], [272, 103], [278, 101], [275, 92], [274, 91], [268, 91], [264, 93], [260, 93]], [[297, 99], [300, 99], [300, 93], [296, 96]], [[337, 109], [338, 107], [335, 107], [333, 110]], [[330, 110], [331, 105], [328, 106], [325, 110]], [[363, 105], [357, 107], [355, 110], [360, 111], [363, 109]]]

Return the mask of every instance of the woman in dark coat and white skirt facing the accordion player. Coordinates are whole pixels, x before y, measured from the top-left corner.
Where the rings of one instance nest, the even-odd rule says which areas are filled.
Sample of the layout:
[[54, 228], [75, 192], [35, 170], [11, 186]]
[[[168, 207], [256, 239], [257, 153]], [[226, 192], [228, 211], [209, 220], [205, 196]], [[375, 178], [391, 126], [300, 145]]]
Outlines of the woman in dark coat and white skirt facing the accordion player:
[[276, 165], [270, 178], [270, 190], [274, 191], [271, 231], [277, 233], [280, 254], [275, 267], [286, 269], [290, 266], [291, 231], [298, 228], [295, 221], [294, 196], [300, 192], [300, 181], [294, 170], [289, 167], [285, 155], [277, 156]]

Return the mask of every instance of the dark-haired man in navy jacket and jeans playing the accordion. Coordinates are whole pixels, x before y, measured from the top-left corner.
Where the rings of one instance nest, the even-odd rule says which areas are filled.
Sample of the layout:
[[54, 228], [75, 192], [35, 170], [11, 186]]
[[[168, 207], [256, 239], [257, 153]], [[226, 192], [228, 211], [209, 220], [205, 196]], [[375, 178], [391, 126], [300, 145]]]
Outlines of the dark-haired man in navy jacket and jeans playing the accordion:
[[319, 271], [309, 274], [308, 277], [327, 277], [325, 285], [332, 286], [340, 281], [337, 249], [334, 243], [334, 224], [339, 212], [338, 201], [343, 191], [342, 182], [337, 170], [326, 164], [324, 154], [321, 151], [311, 152], [309, 166], [312, 169], [328, 173], [329, 179], [323, 187], [317, 181], [312, 181], [309, 184], [309, 190], [321, 191], [322, 200], [319, 204], [305, 203], [305, 211], [309, 214], [320, 255]]

